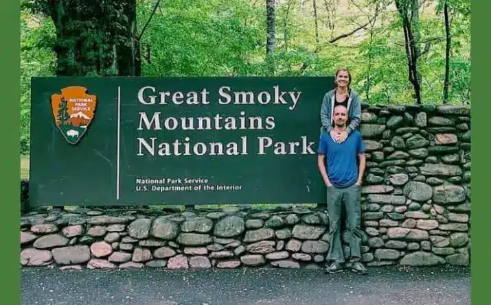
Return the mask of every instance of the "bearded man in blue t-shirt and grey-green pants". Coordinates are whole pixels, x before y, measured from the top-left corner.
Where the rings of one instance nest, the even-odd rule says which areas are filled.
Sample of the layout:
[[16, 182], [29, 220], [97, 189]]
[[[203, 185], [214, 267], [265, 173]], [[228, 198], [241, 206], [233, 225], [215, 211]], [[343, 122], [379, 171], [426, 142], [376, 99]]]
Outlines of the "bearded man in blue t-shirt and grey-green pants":
[[[343, 105], [334, 108], [334, 132], [346, 130], [347, 109]], [[336, 143], [323, 132], [317, 151], [317, 164], [327, 186], [330, 248], [326, 261], [329, 273], [343, 270], [345, 256], [341, 243], [341, 208], [345, 207], [347, 230], [350, 232], [350, 263], [356, 273], [367, 273], [361, 260], [361, 208], [360, 187], [365, 172], [365, 143], [358, 130], [354, 130], [343, 143]], [[359, 159], [359, 162], [358, 162]]]

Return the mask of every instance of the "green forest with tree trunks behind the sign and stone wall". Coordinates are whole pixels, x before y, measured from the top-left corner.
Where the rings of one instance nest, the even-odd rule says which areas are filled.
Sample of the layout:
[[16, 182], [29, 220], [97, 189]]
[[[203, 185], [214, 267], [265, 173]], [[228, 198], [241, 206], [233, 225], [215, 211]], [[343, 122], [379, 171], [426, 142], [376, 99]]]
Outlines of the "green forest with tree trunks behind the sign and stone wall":
[[[33, 76], [326, 76], [366, 103], [470, 104], [470, 0], [21, 0]], [[319, 101], [320, 107], [321, 101]]]

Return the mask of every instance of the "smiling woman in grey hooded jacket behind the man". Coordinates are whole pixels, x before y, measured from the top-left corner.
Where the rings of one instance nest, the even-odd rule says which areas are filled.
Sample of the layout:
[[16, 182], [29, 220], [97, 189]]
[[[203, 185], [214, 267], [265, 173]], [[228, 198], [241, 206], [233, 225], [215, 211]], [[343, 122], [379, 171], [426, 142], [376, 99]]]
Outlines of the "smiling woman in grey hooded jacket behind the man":
[[[328, 134], [336, 143], [343, 143], [347, 136], [354, 130], [358, 129], [361, 118], [361, 99], [355, 90], [350, 88], [351, 73], [347, 68], [340, 68], [336, 71], [334, 85], [336, 88], [330, 90], [324, 95], [321, 106], [321, 123], [322, 129]], [[332, 112], [334, 106], [344, 105], [347, 108], [348, 113], [348, 126], [344, 132], [337, 133], [332, 126]]]

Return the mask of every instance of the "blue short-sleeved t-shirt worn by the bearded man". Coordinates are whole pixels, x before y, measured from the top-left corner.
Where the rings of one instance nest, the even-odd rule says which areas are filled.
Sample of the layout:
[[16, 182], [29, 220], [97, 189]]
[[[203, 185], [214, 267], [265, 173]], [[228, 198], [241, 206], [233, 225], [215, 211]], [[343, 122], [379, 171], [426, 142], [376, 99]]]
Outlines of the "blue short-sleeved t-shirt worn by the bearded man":
[[323, 132], [318, 154], [326, 155], [326, 167], [332, 185], [345, 188], [358, 180], [358, 154], [365, 151], [365, 143], [358, 130], [352, 132], [343, 143], [336, 143], [330, 134]]

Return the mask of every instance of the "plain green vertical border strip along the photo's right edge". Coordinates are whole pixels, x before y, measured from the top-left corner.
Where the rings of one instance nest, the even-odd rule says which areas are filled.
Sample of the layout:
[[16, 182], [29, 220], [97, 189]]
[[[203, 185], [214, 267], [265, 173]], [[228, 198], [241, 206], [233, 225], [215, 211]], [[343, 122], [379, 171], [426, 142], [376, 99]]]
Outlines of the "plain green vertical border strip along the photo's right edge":
[[[489, 113], [491, 110], [489, 100], [489, 73], [490, 49], [489, 49], [489, 12], [491, 2], [472, 0], [471, 8], [471, 54], [472, 54], [472, 97], [471, 106], [472, 130], [471, 154], [472, 154], [472, 192], [471, 192], [471, 228], [470, 240], [470, 303], [489, 304], [490, 302], [490, 260], [486, 252], [490, 241], [489, 230], [491, 204], [489, 199], [490, 186], [490, 152], [489, 147], [490, 128]], [[488, 139], [487, 139], [488, 138]]]

